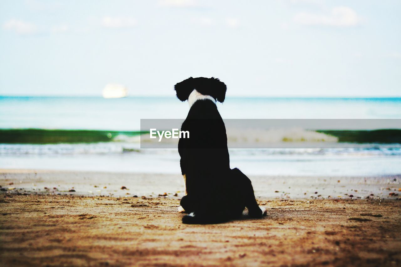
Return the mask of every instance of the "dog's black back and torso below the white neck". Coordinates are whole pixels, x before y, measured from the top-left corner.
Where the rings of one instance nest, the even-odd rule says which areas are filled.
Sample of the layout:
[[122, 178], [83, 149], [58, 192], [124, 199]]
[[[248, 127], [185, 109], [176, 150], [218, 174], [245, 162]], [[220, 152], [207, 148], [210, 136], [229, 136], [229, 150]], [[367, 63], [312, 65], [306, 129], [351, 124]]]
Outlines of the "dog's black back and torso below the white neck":
[[230, 170], [226, 130], [215, 103], [196, 101], [181, 130], [190, 132], [190, 138], [180, 139], [178, 152], [188, 196], [199, 204], [192, 211], [210, 210], [221, 203], [216, 198], [223, 198]]

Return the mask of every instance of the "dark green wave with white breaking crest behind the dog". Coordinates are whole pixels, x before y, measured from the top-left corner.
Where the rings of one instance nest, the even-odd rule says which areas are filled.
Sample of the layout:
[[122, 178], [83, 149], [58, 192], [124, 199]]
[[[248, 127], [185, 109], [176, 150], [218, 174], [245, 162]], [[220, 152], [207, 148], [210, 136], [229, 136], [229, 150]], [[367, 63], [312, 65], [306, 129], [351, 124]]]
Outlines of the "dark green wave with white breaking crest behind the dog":
[[[0, 144], [92, 144], [92, 143], [158, 143], [146, 131], [102, 131], [62, 129], [0, 129]], [[401, 144], [401, 129], [378, 130], [308, 130], [231, 129], [227, 128], [229, 144], [269, 143], [381, 143]], [[162, 142], [178, 143], [178, 139], [163, 138]], [[230, 147], [230, 145], [229, 145]]]

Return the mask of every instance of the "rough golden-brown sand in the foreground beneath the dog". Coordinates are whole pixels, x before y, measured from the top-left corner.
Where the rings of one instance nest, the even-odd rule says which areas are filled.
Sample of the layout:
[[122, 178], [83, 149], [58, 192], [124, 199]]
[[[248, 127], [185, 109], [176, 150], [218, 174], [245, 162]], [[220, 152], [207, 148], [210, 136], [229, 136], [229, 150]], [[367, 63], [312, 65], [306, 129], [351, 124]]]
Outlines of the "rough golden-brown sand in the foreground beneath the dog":
[[1, 192], [0, 265], [401, 266], [397, 196], [259, 198], [265, 218], [183, 225], [180, 196], [43, 191]]

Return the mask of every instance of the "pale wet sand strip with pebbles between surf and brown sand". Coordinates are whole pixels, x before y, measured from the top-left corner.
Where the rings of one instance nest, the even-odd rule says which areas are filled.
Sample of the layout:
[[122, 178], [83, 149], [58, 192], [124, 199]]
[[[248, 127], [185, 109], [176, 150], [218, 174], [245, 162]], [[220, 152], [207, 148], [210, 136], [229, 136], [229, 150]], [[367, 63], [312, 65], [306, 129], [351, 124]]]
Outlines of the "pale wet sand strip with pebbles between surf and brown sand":
[[[257, 198], [387, 199], [400, 194], [401, 175], [388, 176], [249, 176]], [[80, 196], [184, 196], [177, 174], [81, 172], [0, 169], [0, 186], [11, 193], [75, 194]], [[122, 190], [122, 186], [126, 189]], [[8, 188], [14, 188], [9, 190]], [[70, 192], [73, 191], [73, 192]], [[373, 196], [371, 195], [373, 194]]]

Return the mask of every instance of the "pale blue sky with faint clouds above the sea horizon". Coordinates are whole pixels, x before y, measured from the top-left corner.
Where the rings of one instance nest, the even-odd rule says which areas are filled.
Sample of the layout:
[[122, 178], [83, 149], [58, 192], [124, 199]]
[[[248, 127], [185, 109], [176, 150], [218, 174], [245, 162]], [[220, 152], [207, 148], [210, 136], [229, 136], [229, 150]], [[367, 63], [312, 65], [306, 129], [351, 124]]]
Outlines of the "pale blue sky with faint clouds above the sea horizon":
[[1, 0], [0, 95], [401, 96], [399, 0]]

